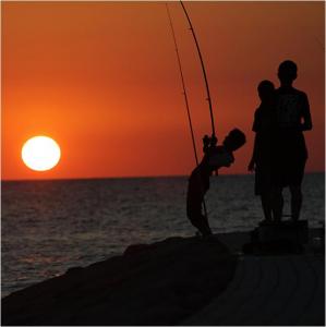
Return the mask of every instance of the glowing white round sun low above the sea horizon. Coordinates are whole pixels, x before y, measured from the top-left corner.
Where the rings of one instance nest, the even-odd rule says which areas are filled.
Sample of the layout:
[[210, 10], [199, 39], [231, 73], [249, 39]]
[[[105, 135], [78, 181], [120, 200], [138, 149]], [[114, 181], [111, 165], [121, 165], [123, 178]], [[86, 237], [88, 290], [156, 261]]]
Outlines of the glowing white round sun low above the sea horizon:
[[22, 159], [32, 170], [50, 170], [59, 162], [60, 157], [58, 143], [48, 136], [34, 136], [22, 147]]

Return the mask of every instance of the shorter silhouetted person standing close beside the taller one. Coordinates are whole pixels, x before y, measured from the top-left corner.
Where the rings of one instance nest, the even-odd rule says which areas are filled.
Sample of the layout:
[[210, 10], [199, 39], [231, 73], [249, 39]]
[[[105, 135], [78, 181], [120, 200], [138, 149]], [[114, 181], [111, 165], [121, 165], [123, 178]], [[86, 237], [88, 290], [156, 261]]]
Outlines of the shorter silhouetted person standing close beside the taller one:
[[271, 172], [276, 129], [275, 87], [270, 81], [262, 81], [257, 90], [262, 102], [254, 116], [252, 130], [256, 135], [247, 169], [255, 170], [255, 194], [261, 195], [265, 221], [270, 222], [274, 213]]

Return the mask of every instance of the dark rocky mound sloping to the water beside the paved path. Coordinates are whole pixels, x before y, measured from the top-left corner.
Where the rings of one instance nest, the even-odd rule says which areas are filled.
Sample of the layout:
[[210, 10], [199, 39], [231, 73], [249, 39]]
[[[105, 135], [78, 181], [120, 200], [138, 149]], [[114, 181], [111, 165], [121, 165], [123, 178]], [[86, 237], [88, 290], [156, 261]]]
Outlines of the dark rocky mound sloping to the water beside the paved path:
[[2, 325], [176, 325], [225, 290], [236, 266], [216, 238], [132, 245], [2, 299]]

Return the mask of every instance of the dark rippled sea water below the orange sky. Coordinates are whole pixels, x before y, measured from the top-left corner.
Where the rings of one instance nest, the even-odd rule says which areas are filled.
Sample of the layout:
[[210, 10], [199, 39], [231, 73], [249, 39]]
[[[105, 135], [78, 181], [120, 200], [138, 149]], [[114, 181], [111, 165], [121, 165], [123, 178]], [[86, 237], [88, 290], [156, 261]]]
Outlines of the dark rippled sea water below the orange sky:
[[[215, 232], [245, 231], [262, 219], [253, 183], [253, 175], [212, 178], [206, 199]], [[317, 227], [325, 216], [324, 173], [307, 174], [303, 189], [302, 218]], [[193, 235], [185, 190], [186, 178], [3, 182], [2, 296], [132, 243]]]

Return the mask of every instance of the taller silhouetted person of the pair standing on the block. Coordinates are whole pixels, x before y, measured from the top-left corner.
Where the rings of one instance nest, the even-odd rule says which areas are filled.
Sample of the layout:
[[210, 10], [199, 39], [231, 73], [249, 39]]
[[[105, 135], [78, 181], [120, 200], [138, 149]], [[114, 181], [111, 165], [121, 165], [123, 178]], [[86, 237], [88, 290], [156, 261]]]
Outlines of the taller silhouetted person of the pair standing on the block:
[[292, 86], [297, 78], [297, 64], [286, 60], [278, 68], [280, 87], [276, 90], [277, 160], [276, 160], [276, 219], [282, 216], [282, 189], [290, 187], [291, 217], [297, 221], [302, 204], [301, 183], [307, 150], [303, 131], [312, 129], [310, 106], [305, 93]]

